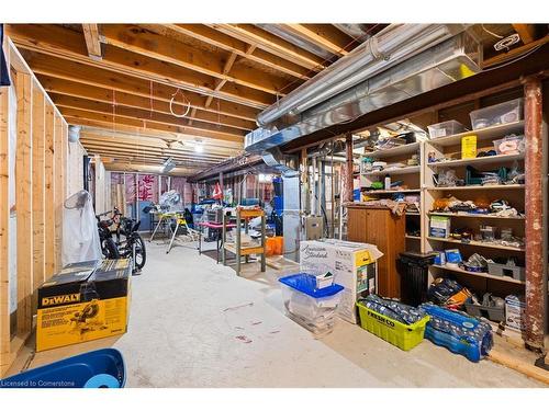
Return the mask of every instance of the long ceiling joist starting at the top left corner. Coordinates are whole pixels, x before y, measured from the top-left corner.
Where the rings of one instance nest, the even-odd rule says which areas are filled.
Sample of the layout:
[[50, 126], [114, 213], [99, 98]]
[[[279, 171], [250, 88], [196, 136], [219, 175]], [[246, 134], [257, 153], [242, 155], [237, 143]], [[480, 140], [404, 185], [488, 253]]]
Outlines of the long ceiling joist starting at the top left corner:
[[[88, 57], [85, 45], [81, 44], [80, 34], [58, 25], [9, 25], [8, 33], [20, 48], [65, 60], [60, 64], [61, 67], [58, 62], [55, 66], [55, 61], [51, 61], [47, 66], [54, 71], [57, 69], [66, 73], [66, 61], [74, 61], [91, 68], [108, 69], [111, 71], [111, 77], [113, 76], [112, 71], [119, 76], [139, 77], [205, 95], [212, 94], [223, 100], [257, 109], [265, 109], [274, 100], [271, 93], [235, 83], [216, 92], [213, 90], [215, 78], [212, 76], [112, 45], [104, 45], [101, 61], [92, 60]], [[32, 68], [34, 71], [34, 67]], [[81, 70], [83, 68], [80, 68]]]

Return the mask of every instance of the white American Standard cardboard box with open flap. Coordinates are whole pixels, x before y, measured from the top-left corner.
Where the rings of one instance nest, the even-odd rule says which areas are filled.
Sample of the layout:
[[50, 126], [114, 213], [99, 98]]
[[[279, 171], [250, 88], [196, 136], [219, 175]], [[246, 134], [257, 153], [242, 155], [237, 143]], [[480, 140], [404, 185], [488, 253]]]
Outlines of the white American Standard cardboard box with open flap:
[[343, 285], [337, 313], [357, 323], [357, 295], [376, 290], [376, 260], [383, 254], [376, 246], [333, 239], [301, 241], [300, 271], [313, 275], [334, 274], [334, 283]]

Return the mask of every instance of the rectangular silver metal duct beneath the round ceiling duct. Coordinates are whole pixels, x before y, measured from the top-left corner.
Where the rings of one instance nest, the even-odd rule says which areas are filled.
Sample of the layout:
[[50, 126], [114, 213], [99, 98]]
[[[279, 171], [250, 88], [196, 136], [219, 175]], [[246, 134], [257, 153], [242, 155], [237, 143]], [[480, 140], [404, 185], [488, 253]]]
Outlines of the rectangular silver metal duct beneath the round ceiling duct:
[[246, 151], [260, 152], [467, 78], [480, 71], [481, 58], [480, 43], [461, 33], [317, 104], [292, 125], [280, 130], [276, 126], [255, 129], [246, 135]]

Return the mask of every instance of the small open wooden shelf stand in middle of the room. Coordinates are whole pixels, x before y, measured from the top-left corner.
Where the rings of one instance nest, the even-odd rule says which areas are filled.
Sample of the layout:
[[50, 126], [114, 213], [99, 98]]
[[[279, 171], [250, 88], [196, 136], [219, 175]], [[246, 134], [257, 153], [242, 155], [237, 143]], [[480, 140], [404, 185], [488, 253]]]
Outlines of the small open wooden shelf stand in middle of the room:
[[[261, 217], [261, 241], [260, 246], [250, 246], [243, 247], [242, 246], [242, 222], [244, 221], [244, 232], [248, 233], [248, 221], [251, 218]], [[240, 265], [242, 258], [245, 258], [245, 262], [249, 261], [250, 254], [260, 254], [261, 255], [261, 272], [265, 272], [266, 269], [266, 255], [265, 255], [265, 241], [266, 241], [266, 216], [262, 209], [246, 209], [246, 208], [237, 208], [236, 209], [236, 238], [234, 243], [227, 243], [226, 239], [226, 226], [228, 219], [225, 215], [223, 215], [223, 265], [226, 265], [226, 253], [227, 251], [235, 254], [236, 258], [236, 275], [240, 275]]]

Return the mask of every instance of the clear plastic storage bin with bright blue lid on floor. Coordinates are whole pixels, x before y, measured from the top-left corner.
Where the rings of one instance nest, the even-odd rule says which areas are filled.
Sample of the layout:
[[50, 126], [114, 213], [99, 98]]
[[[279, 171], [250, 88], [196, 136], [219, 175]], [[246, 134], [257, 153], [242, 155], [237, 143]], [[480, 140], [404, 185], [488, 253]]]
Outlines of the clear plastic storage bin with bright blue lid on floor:
[[316, 277], [299, 273], [279, 278], [288, 317], [321, 336], [332, 332], [337, 305], [340, 300], [339, 284], [316, 288]]

